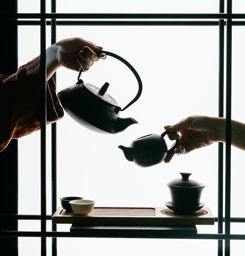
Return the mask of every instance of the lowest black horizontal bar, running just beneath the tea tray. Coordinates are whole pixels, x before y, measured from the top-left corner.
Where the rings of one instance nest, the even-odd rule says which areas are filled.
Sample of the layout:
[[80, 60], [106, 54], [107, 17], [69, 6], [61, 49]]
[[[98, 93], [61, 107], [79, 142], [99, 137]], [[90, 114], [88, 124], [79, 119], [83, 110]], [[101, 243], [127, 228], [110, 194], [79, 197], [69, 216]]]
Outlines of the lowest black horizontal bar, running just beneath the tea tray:
[[[115, 227], [116, 228], [116, 227]], [[92, 232], [91, 232], [92, 231]], [[161, 234], [161, 230], [89, 230], [75, 232], [39, 232], [39, 231], [0, 231], [0, 237], [106, 237], [106, 238], [172, 238], [172, 239], [218, 239], [218, 240], [244, 240], [245, 235], [231, 234]], [[125, 231], [125, 232], [123, 232]]]

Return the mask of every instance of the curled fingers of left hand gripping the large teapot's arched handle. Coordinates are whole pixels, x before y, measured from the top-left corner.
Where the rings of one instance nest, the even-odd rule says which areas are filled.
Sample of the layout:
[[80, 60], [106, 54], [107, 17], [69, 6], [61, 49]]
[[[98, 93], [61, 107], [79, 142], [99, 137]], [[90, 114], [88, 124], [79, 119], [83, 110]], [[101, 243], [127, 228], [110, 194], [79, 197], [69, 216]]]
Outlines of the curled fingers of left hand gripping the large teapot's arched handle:
[[[101, 50], [101, 49], [100, 49]], [[79, 58], [77, 58], [78, 63], [82, 66], [83, 71], [87, 71], [93, 64], [99, 59], [105, 59], [106, 54], [101, 53], [98, 56], [93, 50], [88, 46], [83, 47], [83, 50], [79, 52]]]

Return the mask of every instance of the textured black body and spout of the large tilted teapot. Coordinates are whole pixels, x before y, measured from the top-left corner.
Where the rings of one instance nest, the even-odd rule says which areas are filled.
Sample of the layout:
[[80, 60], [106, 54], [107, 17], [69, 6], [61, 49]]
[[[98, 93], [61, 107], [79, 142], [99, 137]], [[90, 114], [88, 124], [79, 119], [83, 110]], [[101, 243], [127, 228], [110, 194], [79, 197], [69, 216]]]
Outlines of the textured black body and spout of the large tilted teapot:
[[87, 86], [90, 86], [90, 89], [96, 92], [98, 90], [96, 86], [83, 83], [82, 80], [78, 82], [80, 83], [58, 93], [65, 111], [76, 122], [87, 129], [105, 134], [116, 134], [131, 124], [138, 123], [131, 117], [119, 117], [121, 108], [117, 106], [117, 102], [112, 97], [110, 97], [112, 104], [109, 104], [102, 97], [95, 97], [93, 91], [87, 89]]

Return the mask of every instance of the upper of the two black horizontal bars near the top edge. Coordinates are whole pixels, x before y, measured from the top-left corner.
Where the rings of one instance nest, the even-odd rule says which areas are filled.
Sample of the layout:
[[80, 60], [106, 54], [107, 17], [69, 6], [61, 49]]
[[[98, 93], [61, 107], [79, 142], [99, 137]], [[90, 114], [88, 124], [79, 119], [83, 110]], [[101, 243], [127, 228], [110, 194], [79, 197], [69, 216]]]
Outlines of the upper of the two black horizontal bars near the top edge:
[[244, 19], [244, 13], [0, 13], [1, 19]]

